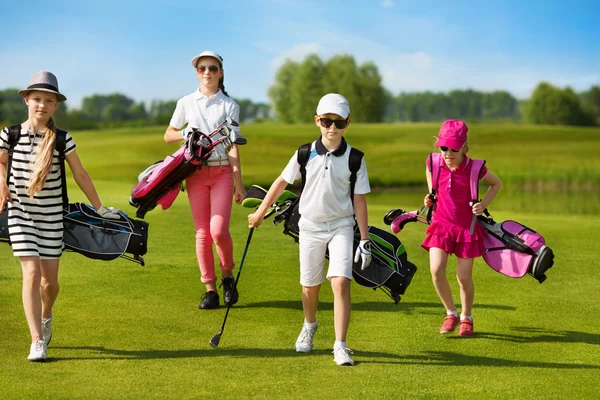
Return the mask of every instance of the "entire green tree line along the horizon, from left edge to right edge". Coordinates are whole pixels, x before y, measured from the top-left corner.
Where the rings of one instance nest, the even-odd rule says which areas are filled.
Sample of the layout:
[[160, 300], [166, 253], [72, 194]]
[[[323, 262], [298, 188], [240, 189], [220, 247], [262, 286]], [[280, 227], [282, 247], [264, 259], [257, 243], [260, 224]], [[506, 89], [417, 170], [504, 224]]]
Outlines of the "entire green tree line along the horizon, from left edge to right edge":
[[[383, 87], [377, 66], [358, 65], [353, 56], [334, 55], [323, 61], [310, 54], [301, 62], [286, 60], [268, 90], [271, 104], [235, 99], [240, 122], [274, 119], [284, 123], [309, 122], [325, 93], [342, 93], [351, 104], [354, 122], [439, 122], [445, 119], [513, 120], [548, 125], [600, 125], [600, 86], [576, 93], [541, 82], [531, 98], [518, 100], [507, 91], [452, 90], [394, 95]], [[60, 103], [57, 123], [66, 129], [167, 125], [176, 100], [136, 103], [124, 94], [85, 97], [79, 109]], [[17, 89], [0, 91], [0, 122], [23, 121], [27, 110]]]

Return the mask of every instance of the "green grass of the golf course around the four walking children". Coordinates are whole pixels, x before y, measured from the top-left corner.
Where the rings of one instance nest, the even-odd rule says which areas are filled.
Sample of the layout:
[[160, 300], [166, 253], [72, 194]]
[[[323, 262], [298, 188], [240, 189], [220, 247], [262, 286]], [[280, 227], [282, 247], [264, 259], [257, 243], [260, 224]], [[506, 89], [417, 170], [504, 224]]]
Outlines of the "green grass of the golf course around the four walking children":
[[[420, 205], [424, 160], [437, 127], [357, 124], [349, 130], [349, 142], [366, 153], [372, 185], [387, 187], [368, 196], [372, 225], [387, 228], [382, 216], [389, 209]], [[163, 132], [74, 133], [105, 204], [134, 214], [127, 199], [138, 173], [176, 149], [164, 144]], [[244, 134], [244, 183], [268, 186], [317, 129], [249, 125]], [[400, 239], [419, 270], [400, 304], [353, 284], [348, 345], [357, 365], [342, 368], [332, 361], [328, 286], [321, 292], [315, 350], [296, 354], [303, 318], [298, 248], [281, 226], [266, 221], [246, 256], [240, 302], [219, 348], [212, 349], [208, 341], [225, 308], [197, 309], [203, 286], [182, 193], [169, 210], [147, 214], [145, 267], [65, 254], [46, 364], [26, 360], [30, 339], [20, 266], [8, 246], [0, 248], [0, 398], [597, 398], [600, 129], [474, 124], [470, 140], [470, 153], [487, 159], [505, 185], [490, 208], [495, 219], [540, 231], [556, 254], [542, 285], [529, 276], [507, 278], [476, 261], [474, 338], [438, 333], [444, 309], [419, 246], [425, 226], [412, 224]], [[73, 182], [69, 190], [71, 201], [85, 201]], [[249, 212], [234, 206], [238, 262]], [[451, 259], [449, 275], [454, 265]]]

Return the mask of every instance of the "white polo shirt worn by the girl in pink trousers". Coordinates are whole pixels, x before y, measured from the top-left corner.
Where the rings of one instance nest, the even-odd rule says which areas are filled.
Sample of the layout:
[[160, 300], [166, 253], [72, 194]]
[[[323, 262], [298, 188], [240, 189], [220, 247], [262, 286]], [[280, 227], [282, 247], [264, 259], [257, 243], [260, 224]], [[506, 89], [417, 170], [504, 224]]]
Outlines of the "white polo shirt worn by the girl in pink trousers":
[[[225, 96], [220, 89], [212, 96], [205, 96], [198, 89], [177, 101], [169, 125], [181, 129], [188, 124], [192, 128], [200, 129], [202, 133], [209, 134], [227, 117], [236, 122], [240, 121], [240, 106], [235, 100]], [[221, 144], [212, 152], [209, 161], [219, 159], [227, 162], [227, 153]]]

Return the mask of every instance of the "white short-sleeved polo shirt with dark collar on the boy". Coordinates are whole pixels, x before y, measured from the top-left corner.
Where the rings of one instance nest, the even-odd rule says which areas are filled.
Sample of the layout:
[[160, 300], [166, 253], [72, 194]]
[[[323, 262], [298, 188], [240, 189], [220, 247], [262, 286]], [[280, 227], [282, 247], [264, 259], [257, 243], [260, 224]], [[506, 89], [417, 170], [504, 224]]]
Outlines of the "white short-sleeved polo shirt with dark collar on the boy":
[[[321, 138], [311, 145], [306, 163], [306, 182], [300, 197], [299, 211], [302, 218], [313, 222], [330, 222], [354, 215], [350, 199], [350, 145], [342, 138], [342, 144], [334, 152], [329, 152]], [[302, 178], [298, 164], [298, 150], [281, 173], [289, 184]], [[354, 193], [366, 194], [371, 191], [367, 164], [363, 157], [356, 175]]]

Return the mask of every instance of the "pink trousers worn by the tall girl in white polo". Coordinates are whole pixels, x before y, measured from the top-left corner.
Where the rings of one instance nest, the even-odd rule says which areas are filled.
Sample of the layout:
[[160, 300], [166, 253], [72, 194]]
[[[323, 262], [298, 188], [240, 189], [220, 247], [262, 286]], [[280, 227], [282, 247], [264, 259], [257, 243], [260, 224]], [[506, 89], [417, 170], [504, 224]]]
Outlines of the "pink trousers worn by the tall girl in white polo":
[[213, 242], [222, 271], [231, 271], [233, 241], [229, 219], [233, 201], [233, 172], [229, 165], [202, 169], [186, 180], [188, 199], [196, 229], [196, 255], [203, 283], [216, 282]]

